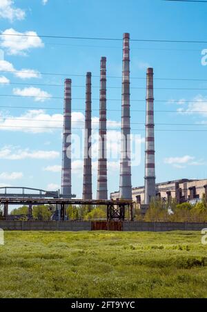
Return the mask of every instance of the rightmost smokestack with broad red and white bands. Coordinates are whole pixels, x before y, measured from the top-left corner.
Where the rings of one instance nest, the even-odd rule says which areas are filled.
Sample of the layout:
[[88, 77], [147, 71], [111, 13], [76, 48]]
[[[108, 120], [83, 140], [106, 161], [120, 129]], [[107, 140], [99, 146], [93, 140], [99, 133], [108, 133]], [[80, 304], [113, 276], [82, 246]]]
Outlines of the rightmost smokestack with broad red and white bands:
[[154, 135], [153, 68], [147, 69], [146, 90], [146, 151], [145, 151], [145, 197], [144, 203], [156, 196], [155, 191], [155, 135]]

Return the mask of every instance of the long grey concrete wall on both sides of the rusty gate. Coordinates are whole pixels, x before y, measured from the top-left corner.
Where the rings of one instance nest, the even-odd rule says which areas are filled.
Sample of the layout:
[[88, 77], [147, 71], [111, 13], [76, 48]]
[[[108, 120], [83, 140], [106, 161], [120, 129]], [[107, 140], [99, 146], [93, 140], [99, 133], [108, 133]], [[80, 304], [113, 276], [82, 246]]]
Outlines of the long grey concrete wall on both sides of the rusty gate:
[[[104, 221], [103, 221], [104, 222]], [[105, 221], [106, 222], [106, 221]], [[91, 231], [90, 221], [1, 221], [0, 228], [17, 231]], [[123, 222], [123, 231], [201, 231], [207, 223], [188, 222]]]

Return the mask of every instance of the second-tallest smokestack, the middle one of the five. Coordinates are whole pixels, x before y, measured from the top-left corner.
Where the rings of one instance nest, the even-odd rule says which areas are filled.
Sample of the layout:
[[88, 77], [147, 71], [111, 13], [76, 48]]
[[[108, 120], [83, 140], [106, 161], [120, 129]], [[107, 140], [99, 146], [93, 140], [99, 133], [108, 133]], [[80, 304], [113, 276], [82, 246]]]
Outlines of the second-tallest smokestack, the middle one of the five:
[[101, 57], [97, 199], [108, 199], [106, 155], [106, 57]]

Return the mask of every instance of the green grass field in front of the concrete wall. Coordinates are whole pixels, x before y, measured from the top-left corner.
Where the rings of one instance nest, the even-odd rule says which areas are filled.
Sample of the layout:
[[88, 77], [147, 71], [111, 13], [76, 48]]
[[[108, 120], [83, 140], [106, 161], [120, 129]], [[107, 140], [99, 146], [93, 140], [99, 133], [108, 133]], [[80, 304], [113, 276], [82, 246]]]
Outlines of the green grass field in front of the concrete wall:
[[199, 232], [6, 231], [0, 298], [206, 298]]

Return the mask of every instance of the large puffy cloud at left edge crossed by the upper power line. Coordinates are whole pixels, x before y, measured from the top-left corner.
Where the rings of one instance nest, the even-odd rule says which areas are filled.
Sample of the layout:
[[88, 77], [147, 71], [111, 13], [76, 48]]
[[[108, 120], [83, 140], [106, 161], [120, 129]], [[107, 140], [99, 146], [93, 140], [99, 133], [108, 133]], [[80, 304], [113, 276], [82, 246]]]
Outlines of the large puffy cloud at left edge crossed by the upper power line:
[[2, 32], [2, 34], [1, 48], [6, 49], [8, 54], [25, 56], [30, 49], [44, 46], [37, 32], [17, 32], [10, 28]]

